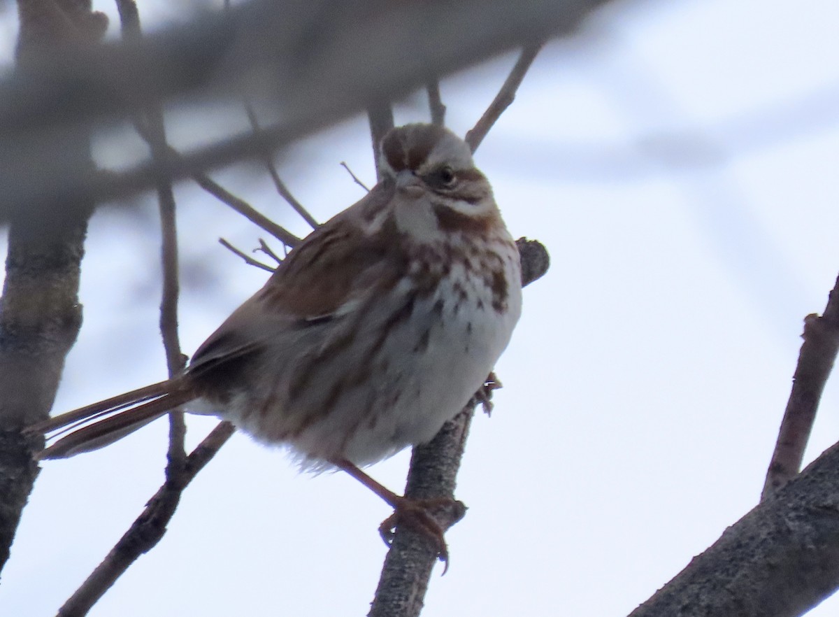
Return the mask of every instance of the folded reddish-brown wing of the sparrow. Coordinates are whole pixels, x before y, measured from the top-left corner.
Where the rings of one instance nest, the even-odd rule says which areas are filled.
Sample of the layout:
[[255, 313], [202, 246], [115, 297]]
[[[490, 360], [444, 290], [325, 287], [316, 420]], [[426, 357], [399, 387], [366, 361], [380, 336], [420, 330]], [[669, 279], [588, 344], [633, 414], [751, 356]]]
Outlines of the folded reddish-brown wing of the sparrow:
[[237, 379], [282, 329], [320, 324], [356, 311], [376, 290], [399, 280], [407, 260], [395, 225], [385, 222], [375, 233], [366, 229], [392, 196], [392, 185], [379, 184], [310, 233], [263, 288], [207, 338], [192, 358], [190, 373]]

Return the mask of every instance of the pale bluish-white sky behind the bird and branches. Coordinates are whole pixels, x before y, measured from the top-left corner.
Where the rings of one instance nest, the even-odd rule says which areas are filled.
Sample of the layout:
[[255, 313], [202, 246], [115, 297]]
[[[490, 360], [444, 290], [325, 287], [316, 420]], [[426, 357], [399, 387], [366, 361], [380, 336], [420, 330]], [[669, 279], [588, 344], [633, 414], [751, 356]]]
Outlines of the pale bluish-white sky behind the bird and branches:
[[[173, 18], [155, 8], [141, 7], [149, 27]], [[7, 8], [8, 55], [14, 21]], [[539, 56], [476, 159], [513, 235], [545, 243], [552, 265], [525, 291], [492, 418], [474, 422], [457, 489], [469, 511], [425, 615], [628, 614], [756, 505], [802, 318], [839, 273], [837, 23], [831, 0], [620, 3]], [[451, 128], [472, 126], [514, 58], [443, 83]], [[173, 112], [172, 142], [245, 127], [217, 113]], [[427, 118], [420, 95], [398, 109]], [[368, 144], [356, 118], [290, 149], [281, 174], [326, 220], [362, 196], [341, 161], [373, 182]], [[103, 134], [97, 159], [118, 168], [134, 148]], [[305, 233], [262, 170], [215, 177]], [[177, 196], [191, 353], [266, 278], [216, 238], [248, 250], [266, 234], [188, 183]], [[56, 410], [165, 376], [155, 206], [138, 201], [91, 221]], [[821, 411], [808, 460], [839, 438], [833, 383]], [[190, 443], [211, 426], [190, 421]], [[159, 487], [166, 431], [44, 464], [0, 612], [55, 614]], [[401, 489], [407, 461], [370, 472]], [[352, 478], [300, 474], [237, 435], [91, 615], [366, 614], [388, 514]]]

